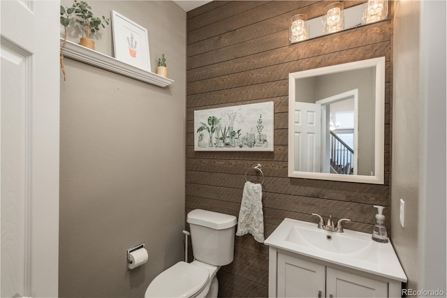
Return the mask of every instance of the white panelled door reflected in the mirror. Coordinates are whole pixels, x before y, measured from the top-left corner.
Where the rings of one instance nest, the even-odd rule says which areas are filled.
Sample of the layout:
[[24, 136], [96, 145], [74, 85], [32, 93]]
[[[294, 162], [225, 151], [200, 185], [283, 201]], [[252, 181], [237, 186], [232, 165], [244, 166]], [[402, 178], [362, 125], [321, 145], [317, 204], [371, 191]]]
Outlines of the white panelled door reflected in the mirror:
[[321, 105], [296, 102], [294, 129], [295, 170], [321, 172]]

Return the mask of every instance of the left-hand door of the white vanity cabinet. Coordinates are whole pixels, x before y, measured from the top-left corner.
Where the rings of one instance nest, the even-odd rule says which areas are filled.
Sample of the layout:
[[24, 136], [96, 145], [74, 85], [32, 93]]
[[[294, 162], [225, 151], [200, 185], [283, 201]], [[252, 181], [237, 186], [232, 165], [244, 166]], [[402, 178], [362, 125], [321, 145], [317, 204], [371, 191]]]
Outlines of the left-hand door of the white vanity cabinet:
[[277, 297], [325, 297], [325, 266], [278, 253]]

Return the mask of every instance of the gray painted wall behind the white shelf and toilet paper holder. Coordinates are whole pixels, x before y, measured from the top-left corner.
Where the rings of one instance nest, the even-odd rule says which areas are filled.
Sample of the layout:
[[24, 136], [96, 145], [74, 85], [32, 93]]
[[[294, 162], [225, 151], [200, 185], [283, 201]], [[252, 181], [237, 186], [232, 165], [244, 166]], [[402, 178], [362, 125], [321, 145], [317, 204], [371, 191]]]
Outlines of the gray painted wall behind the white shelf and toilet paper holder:
[[[163, 52], [175, 82], [162, 89], [65, 59], [59, 296], [142, 297], [183, 258], [186, 13], [172, 1], [89, 4], [97, 15], [116, 10], [145, 27], [152, 71]], [[110, 26], [100, 33], [96, 50], [110, 55]], [[126, 248], [141, 242], [149, 262], [127, 271]]]

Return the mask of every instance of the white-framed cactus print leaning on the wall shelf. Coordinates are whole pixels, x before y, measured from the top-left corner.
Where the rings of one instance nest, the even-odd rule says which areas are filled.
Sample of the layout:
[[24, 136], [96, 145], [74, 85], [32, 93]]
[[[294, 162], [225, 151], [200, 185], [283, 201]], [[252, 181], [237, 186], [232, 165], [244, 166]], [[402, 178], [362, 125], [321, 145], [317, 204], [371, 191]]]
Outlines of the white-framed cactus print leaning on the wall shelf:
[[112, 33], [117, 60], [151, 71], [147, 29], [112, 10]]

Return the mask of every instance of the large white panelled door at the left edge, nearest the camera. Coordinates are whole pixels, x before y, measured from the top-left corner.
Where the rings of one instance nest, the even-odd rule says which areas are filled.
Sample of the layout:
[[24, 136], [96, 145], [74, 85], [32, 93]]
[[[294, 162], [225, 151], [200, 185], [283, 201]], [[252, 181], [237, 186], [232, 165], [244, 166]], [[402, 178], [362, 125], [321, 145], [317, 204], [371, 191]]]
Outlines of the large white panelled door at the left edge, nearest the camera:
[[1, 297], [57, 297], [59, 1], [0, 1]]

